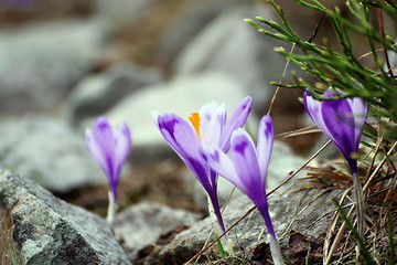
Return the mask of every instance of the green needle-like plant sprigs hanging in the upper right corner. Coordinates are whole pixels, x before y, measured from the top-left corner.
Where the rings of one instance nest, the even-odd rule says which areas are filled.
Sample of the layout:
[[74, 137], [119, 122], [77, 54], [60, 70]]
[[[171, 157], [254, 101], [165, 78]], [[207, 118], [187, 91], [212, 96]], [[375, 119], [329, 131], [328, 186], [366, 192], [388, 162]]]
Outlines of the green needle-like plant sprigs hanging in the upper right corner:
[[[351, 17], [354, 18], [354, 20], [350, 20], [342, 14], [340, 8], [328, 8], [319, 0], [296, 1], [303, 7], [322, 13], [331, 22], [341, 51], [332, 50], [326, 39], [322, 41], [322, 45], [312, 43], [312, 38], [310, 40], [301, 39], [285, 18], [282, 9], [276, 4], [275, 0], [268, 0], [281, 22], [278, 23], [257, 17], [256, 19], [267, 25], [267, 29], [250, 19], [247, 19], [246, 22], [254, 25], [260, 33], [300, 49], [301, 53], [287, 51], [285, 47], [276, 47], [275, 50], [316, 80], [314, 84], [311, 84], [293, 75], [294, 84], [277, 82], [272, 84], [281, 87], [309, 89], [319, 99], [323, 99], [321, 94], [328, 87], [334, 86], [343, 92], [343, 97], [364, 98], [372, 105], [372, 114], [375, 117], [387, 117], [396, 123], [397, 80], [394, 76], [386, 51], [396, 53], [397, 46], [391, 36], [386, 34], [383, 26], [383, 13], [386, 13], [394, 23], [397, 22], [396, 4], [393, 1], [382, 0], [348, 0], [346, 7]], [[380, 29], [369, 22], [371, 13], [376, 11], [374, 9], [378, 11]], [[364, 66], [361, 62], [362, 56], [354, 55], [354, 42], [351, 39], [352, 31], [365, 35], [371, 51], [363, 56], [372, 56], [374, 67]], [[313, 36], [315, 36], [315, 32]], [[369, 135], [373, 136], [372, 132]], [[397, 134], [390, 135], [390, 140], [396, 140]]]

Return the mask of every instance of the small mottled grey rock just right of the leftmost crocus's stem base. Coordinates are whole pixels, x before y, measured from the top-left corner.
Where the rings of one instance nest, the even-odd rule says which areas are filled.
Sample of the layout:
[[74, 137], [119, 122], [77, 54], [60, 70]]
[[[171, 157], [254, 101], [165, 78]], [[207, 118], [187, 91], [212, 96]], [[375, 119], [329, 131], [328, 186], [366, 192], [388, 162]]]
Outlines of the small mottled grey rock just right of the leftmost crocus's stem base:
[[117, 214], [112, 226], [117, 241], [122, 242], [122, 248], [132, 259], [137, 257], [137, 251], [153, 245], [159, 236], [184, 230], [197, 220], [198, 214], [142, 202]]

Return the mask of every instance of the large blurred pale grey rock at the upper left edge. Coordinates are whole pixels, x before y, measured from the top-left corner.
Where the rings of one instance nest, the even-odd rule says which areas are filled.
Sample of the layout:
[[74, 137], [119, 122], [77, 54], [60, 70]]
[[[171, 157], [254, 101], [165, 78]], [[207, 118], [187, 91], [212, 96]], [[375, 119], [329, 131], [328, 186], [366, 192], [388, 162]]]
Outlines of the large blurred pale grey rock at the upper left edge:
[[64, 21], [0, 32], [0, 110], [21, 113], [57, 106], [100, 54], [97, 23]]

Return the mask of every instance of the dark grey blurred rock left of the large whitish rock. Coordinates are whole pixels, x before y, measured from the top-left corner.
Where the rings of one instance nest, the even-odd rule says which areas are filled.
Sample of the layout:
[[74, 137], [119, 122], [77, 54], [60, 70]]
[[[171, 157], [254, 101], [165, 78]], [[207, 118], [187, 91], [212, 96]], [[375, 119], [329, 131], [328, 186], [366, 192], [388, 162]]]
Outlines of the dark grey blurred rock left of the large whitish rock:
[[82, 119], [103, 115], [118, 100], [143, 86], [163, 81], [155, 68], [143, 68], [133, 64], [117, 64], [105, 73], [85, 77], [65, 100], [65, 115], [73, 124]]

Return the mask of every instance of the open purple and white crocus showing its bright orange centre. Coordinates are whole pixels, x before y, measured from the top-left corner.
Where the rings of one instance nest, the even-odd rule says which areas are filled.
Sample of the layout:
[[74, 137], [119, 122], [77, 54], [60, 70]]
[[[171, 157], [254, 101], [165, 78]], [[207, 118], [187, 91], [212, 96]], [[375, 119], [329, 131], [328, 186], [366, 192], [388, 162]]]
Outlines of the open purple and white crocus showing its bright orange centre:
[[193, 113], [190, 121], [175, 114], [154, 114], [155, 124], [172, 149], [197, 177], [208, 194], [218, 220], [225, 231], [216, 194], [217, 174], [211, 170], [202, 153], [208, 146], [217, 146], [227, 151], [229, 138], [236, 128], [244, 126], [251, 109], [251, 98], [246, 97], [235, 109], [226, 124], [225, 105], [216, 103], [204, 105], [198, 113]]

